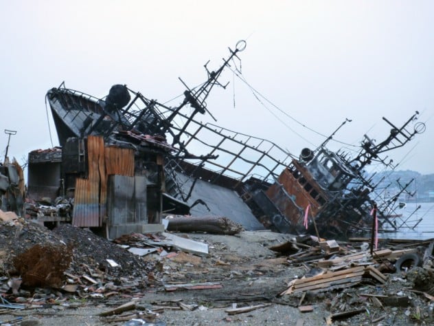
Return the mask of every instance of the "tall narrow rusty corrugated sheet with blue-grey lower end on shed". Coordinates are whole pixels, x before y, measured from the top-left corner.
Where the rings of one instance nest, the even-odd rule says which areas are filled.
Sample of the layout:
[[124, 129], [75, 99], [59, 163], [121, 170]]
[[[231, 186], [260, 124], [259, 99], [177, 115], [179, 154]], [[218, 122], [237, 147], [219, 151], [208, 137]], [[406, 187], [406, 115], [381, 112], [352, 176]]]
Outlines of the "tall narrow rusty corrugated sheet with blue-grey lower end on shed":
[[[81, 227], [102, 225], [100, 215], [101, 174], [105, 176], [104, 139], [98, 136], [87, 138], [89, 174], [87, 179], [77, 178], [72, 224]], [[104, 177], [103, 180], [106, 178]], [[105, 205], [104, 205], [105, 206]], [[105, 214], [105, 211], [104, 211]]]

